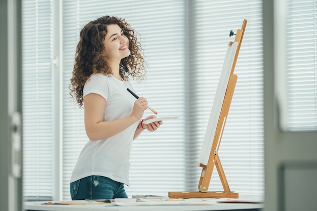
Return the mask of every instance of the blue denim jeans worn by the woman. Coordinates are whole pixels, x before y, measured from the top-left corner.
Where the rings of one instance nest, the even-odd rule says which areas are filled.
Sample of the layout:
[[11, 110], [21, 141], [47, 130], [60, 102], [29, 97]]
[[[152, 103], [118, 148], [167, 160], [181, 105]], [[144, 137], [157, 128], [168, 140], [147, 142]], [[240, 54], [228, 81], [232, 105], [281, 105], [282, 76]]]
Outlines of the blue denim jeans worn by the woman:
[[123, 183], [107, 177], [88, 176], [70, 183], [72, 200], [128, 198]]

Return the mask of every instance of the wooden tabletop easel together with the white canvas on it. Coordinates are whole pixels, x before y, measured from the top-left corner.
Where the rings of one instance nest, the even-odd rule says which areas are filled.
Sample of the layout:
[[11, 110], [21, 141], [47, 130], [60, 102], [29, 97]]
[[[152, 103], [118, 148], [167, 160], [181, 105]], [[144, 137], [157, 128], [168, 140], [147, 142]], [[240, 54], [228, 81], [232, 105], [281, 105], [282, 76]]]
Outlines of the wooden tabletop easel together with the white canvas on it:
[[[207, 130], [197, 165], [202, 167], [198, 184], [198, 191], [169, 192], [170, 198], [239, 198], [239, 193], [230, 190], [224, 170], [218, 155], [224, 126], [227, 120], [237, 76], [233, 74], [237, 56], [239, 55], [247, 20], [243, 21], [242, 28], [235, 35], [234, 42], [230, 41], [212, 106]], [[218, 121], [215, 121], [218, 119]], [[211, 142], [212, 140], [212, 142]], [[208, 191], [211, 176], [216, 166], [224, 191]]]

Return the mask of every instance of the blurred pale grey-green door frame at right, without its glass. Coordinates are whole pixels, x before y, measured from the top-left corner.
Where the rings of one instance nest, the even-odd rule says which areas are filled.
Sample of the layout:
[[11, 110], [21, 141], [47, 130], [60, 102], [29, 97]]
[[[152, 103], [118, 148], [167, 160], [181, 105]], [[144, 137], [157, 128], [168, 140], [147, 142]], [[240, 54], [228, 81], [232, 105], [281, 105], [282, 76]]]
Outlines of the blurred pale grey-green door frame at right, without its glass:
[[317, 132], [290, 132], [286, 126], [286, 5], [263, 1], [264, 210], [317, 210]]

